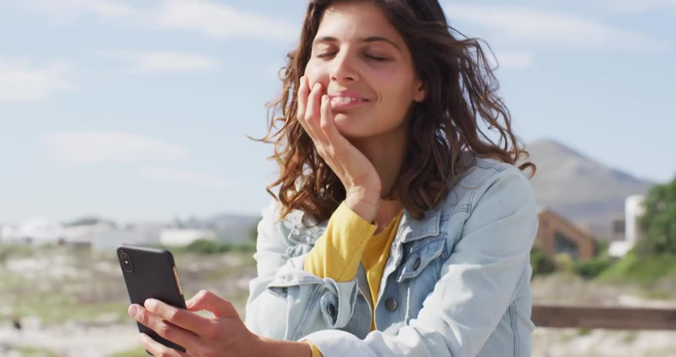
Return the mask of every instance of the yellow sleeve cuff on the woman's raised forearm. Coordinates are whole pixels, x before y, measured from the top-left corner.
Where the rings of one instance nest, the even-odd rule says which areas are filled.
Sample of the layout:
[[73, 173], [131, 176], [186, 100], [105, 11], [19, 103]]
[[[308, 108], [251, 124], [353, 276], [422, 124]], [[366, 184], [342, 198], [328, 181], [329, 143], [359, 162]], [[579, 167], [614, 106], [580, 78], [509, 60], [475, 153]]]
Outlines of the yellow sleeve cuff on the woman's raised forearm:
[[364, 220], [343, 201], [305, 258], [304, 270], [337, 282], [351, 281], [357, 275], [366, 243], [376, 229], [376, 224]]

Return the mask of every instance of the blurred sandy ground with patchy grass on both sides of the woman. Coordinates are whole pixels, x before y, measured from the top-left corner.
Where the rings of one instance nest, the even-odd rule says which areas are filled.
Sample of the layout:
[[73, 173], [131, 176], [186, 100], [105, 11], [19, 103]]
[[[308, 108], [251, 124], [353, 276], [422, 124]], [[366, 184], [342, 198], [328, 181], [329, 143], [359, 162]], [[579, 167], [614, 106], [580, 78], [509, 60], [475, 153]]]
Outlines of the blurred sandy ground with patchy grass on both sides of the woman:
[[[238, 306], [243, 316], [247, 284], [255, 275], [250, 253], [176, 255], [186, 298], [210, 289]], [[676, 291], [646, 291], [589, 283], [573, 275], [533, 279], [541, 303], [676, 308]], [[658, 295], [659, 300], [654, 299]], [[0, 357], [135, 357], [135, 323], [115, 252], [23, 249], [0, 256]], [[14, 328], [19, 320], [22, 329]], [[676, 331], [536, 329], [533, 356], [676, 357]]]

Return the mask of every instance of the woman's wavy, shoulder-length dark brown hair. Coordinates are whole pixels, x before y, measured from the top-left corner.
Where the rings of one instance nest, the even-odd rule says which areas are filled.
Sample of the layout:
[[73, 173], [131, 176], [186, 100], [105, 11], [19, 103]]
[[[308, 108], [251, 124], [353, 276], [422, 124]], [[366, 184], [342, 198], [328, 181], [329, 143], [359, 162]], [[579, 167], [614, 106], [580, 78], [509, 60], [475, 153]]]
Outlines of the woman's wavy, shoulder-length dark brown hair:
[[[310, 1], [300, 44], [287, 54], [287, 64], [279, 71], [281, 97], [266, 105], [268, 132], [262, 139], [254, 139], [274, 143], [269, 159], [279, 165], [279, 179], [268, 185], [267, 191], [283, 206], [279, 218], [298, 209], [322, 222], [345, 199], [345, 187], [296, 120], [296, 89], [310, 60], [312, 41], [324, 10], [338, 1], [349, 0]], [[421, 219], [425, 211], [445, 199], [452, 184], [477, 158], [516, 165], [527, 152], [512, 133], [510, 113], [497, 93], [500, 84], [480, 45], [485, 41], [470, 39], [449, 26], [437, 0], [370, 1], [379, 5], [406, 41], [414, 71], [427, 89], [423, 102], [412, 103], [406, 118], [404, 161], [393, 187], [382, 195], [383, 199], [400, 199], [414, 218]], [[482, 125], [498, 134], [497, 143]], [[470, 162], [459, 160], [462, 151], [470, 153]], [[518, 167], [535, 173], [531, 162]], [[281, 185], [279, 198], [270, 190], [277, 185]]]

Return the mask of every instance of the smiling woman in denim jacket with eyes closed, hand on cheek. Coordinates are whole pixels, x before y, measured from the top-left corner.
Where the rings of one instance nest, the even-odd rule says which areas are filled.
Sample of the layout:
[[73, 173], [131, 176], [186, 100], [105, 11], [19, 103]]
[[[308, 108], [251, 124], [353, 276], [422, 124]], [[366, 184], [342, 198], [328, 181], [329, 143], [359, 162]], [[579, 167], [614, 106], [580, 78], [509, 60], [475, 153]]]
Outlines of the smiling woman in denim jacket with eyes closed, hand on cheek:
[[515, 166], [479, 42], [454, 34], [437, 0], [310, 1], [262, 139], [280, 193], [258, 224], [246, 323], [208, 291], [189, 310], [214, 318], [149, 302], [132, 315], [187, 353], [145, 348], [530, 356], [535, 167]]

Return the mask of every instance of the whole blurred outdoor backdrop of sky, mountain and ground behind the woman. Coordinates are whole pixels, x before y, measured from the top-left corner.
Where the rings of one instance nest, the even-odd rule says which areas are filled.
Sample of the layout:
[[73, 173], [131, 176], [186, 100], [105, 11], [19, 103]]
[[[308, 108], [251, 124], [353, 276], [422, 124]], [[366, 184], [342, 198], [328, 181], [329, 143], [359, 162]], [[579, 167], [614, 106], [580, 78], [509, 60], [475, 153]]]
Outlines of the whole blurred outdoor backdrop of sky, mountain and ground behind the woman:
[[[0, 356], [144, 356], [114, 247], [243, 316], [276, 167], [264, 103], [307, 2], [0, 0]], [[442, 1], [538, 166], [535, 304], [676, 308], [676, 2]], [[533, 356], [676, 356], [538, 328]]]

